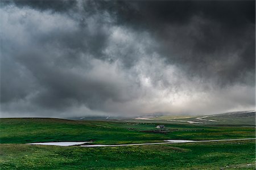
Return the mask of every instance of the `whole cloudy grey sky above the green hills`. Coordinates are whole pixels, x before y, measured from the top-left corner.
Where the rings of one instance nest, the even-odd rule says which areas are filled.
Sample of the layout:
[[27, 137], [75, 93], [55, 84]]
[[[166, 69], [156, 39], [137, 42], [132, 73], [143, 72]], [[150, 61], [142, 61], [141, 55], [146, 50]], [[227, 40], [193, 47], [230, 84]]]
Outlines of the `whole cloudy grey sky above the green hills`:
[[255, 1], [1, 1], [1, 117], [255, 110]]

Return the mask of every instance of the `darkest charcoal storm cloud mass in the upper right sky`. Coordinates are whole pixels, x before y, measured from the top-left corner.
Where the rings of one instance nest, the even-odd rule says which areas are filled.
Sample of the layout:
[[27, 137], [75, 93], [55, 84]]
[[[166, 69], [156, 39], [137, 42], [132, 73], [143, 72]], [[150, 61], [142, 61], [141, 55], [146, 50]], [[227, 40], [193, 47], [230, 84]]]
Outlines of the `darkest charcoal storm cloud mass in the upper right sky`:
[[[135, 6], [131, 15], [130, 11], [118, 14], [131, 27], [135, 22], [135, 27], [150, 29], [161, 43], [159, 52], [170, 63], [205, 78], [216, 76], [222, 85], [247, 83], [247, 71], [255, 73], [255, 1], [127, 3]], [[236, 61], [229, 62], [236, 55]], [[209, 69], [214, 62], [226, 64], [221, 70]], [[251, 75], [253, 85], [255, 76]]]

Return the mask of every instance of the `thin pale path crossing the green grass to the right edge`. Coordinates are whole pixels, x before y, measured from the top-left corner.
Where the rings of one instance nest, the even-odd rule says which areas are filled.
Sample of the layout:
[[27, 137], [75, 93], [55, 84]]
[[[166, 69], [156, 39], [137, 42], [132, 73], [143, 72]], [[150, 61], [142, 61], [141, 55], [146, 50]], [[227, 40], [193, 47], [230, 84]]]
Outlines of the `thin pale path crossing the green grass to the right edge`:
[[114, 147], [114, 146], [163, 145], [163, 144], [174, 144], [174, 143], [199, 143], [199, 142], [221, 142], [221, 141], [245, 141], [245, 140], [255, 140], [255, 139], [256, 139], [256, 138], [243, 138], [243, 139], [219, 139], [219, 140], [208, 140], [208, 141], [159, 142], [159, 143], [134, 143], [134, 144], [123, 144], [123, 145], [81, 145], [81, 147]]

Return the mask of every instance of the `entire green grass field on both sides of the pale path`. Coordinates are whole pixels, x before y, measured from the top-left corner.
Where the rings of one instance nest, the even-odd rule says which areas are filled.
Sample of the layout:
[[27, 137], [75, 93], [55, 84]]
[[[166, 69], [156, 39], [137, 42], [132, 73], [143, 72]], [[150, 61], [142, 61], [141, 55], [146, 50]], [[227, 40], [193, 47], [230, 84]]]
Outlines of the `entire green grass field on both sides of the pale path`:
[[[255, 169], [255, 141], [84, 148], [24, 143], [163, 142], [164, 139], [255, 138], [255, 128], [53, 118], [1, 118], [1, 169]], [[250, 165], [251, 164], [251, 165]]]

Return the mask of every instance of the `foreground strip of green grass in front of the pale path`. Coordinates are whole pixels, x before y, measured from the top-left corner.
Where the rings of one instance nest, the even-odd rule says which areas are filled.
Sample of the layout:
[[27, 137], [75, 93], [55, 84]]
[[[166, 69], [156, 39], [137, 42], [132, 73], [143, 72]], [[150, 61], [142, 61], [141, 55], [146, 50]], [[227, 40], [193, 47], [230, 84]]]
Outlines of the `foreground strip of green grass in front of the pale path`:
[[254, 141], [101, 148], [2, 144], [0, 164], [1, 169], [255, 169], [253, 151]]

